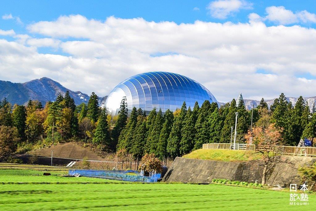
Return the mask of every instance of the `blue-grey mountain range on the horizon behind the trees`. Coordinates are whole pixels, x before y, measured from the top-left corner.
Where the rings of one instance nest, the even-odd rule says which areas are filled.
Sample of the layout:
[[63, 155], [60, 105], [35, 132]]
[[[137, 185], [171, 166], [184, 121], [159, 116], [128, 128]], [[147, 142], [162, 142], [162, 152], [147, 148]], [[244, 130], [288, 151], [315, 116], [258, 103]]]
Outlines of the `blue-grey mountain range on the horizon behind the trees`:
[[[3, 100], [4, 97], [12, 104], [26, 104], [29, 100], [39, 100], [43, 105], [47, 101], [55, 101], [59, 93], [62, 95], [66, 91], [69, 91], [70, 96], [75, 100], [76, 105], [84, 102], [87, 103], [89, 96], [81, 91], [72, 91], [65, 88], [63, 85], [59, 84], [57, 81], [54, 81], [50, 78], [40, 78], [34, 79], [25, 83], [12, 83], [10, 81], [1, 81], [0, 80], [0, 100]], [[107, 96], [99, 96], [99, 105], [104, 106]], [[288, 102], [292, 102], [292, 105], [295, 105], [297, 97], [287, 97]], [[313, 108], [313, 103], [316, 103], [316, 96], [314, 97], [304, 97], [304, 100], [307, 101], [309, 108]], [[268, 106], [273, 104], [274, 99], [265, 100]], [[258, 105], [260, 101], [258, 100], [249, 100], [244, 99], [245, 106], [248, 110], [252, 109], [252, 105]], [[225, 102], [219, 102], [220, 105], [224, 105]]]

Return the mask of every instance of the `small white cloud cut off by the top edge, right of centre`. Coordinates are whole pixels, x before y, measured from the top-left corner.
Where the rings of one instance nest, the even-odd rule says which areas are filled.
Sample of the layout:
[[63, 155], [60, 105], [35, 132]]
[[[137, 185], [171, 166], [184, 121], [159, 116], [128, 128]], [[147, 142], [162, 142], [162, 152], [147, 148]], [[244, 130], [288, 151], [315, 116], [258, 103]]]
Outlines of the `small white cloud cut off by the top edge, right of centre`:
[[210, 10], [212, 17], [225, 19], [240, 9], [252, 9], [252, 3], [243, 0], [218, 0], [210, 2], [206, 9]]

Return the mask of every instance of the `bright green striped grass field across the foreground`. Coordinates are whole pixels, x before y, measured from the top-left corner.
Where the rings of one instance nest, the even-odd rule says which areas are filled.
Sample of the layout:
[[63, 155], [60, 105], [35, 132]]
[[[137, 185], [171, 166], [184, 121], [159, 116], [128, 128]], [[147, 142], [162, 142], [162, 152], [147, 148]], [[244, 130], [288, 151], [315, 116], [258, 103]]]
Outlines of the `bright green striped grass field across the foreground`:
[[[288, 191], [223, 184], [130, 183], [0, 169], [0, 210], [315, 210], [289, 205]], [[61, 171], [64, 172], [64, 171]]]

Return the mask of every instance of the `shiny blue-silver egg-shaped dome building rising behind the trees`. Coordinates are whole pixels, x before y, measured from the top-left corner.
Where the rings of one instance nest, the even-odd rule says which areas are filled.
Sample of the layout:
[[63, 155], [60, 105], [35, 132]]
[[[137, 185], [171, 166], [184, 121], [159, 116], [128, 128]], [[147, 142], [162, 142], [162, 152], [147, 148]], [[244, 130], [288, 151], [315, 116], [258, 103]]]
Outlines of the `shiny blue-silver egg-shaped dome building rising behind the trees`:
[[[205, 100], [217, 102], [215, 97], [203, 85], [191, 78], [171, 72], [145, 72], [127, 78], [119, 83], [108, 95], [105, 107], [112, 116], [117, 115], [120, 103], [126, 96], [127, 108], [141, 108], [146, 113], [161, 108], [175, 111], [183, 102], [193, 109], [197, 101], [199, 106]], [[217, 102], [218, 103], [218, 102]]]

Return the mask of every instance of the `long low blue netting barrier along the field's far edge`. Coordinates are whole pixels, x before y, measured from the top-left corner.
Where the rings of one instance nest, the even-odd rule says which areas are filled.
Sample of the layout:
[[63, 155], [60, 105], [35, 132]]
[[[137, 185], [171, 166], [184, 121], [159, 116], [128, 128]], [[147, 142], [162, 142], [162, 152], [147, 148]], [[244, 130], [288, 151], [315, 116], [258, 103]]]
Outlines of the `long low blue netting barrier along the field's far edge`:
[[122, 181], [131, 181], [131, 182], [145, 182], [145, 183], [155, 183], [158, 178], [161, 177], [161, 174], [153, 174], [150, 177], [142, 176], [140, 172], [128, 170], [92, 170], [92, 169], [71, 169], [69, 170], [69, 175], [80, 174], [84, 177], [98, 177], [104, 179], [115, 179]]

